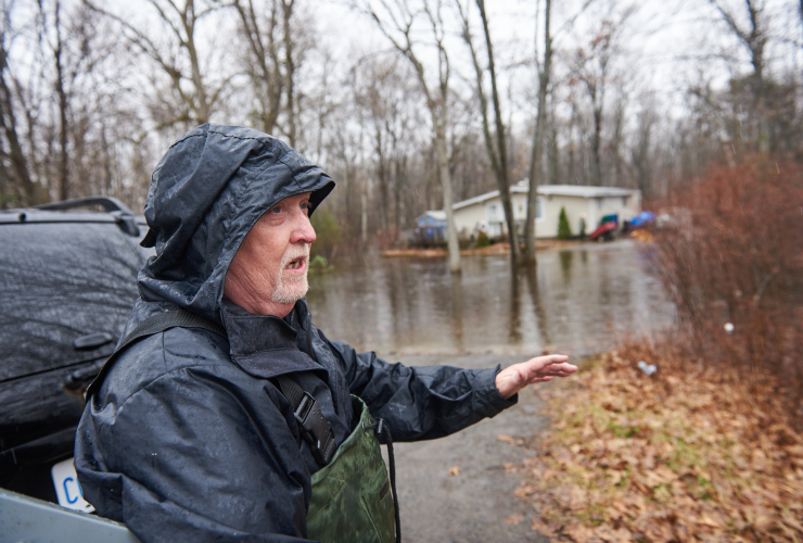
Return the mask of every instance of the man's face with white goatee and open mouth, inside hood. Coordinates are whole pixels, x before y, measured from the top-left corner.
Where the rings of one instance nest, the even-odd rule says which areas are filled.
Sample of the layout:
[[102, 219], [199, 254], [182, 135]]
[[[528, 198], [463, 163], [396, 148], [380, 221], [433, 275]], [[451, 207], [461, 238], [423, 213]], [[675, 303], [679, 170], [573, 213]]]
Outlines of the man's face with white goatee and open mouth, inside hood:
[[259, 217], [226, 274], [226, 298], [257, 315], [284, 317], [307, 293], [309, 193], [285, 198]]

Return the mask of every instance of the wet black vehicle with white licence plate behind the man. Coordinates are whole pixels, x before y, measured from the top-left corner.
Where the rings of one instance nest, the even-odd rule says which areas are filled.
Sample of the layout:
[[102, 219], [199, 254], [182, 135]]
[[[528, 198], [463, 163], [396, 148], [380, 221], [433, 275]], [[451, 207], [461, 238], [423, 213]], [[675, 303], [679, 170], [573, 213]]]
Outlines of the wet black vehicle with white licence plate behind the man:
[[85, 504], [75, 429], [137, 298], [145, 230], [112, 198], [0, 212], [0, 488]]

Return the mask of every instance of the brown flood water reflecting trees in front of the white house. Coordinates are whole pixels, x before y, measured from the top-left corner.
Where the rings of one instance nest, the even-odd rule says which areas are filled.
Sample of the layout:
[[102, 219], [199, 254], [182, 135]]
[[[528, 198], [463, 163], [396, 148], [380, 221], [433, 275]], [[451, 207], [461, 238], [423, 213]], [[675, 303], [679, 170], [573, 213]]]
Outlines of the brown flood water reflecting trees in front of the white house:
[[307, 302], [330, 339], [380, 356], [541, 351], [587, 355], [672, 324], [673, 306], [632, 240], [538, 253], [534, 272], [507, 255], [357, 257], [310, 277]]

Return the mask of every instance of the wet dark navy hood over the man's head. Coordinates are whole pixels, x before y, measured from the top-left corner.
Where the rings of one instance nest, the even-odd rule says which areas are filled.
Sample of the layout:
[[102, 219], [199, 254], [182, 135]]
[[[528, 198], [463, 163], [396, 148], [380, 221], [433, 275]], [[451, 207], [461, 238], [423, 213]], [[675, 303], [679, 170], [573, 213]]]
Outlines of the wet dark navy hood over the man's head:
[[155, 247], [140, 270], [140, 295], [221, 323], [231, 258], [257, 219], [281, 200], [311, 192], [310, 215], [334, 188], [318, 166], [267, 134], [206, 124], [184, 134], [153, 173], [145, 201]]

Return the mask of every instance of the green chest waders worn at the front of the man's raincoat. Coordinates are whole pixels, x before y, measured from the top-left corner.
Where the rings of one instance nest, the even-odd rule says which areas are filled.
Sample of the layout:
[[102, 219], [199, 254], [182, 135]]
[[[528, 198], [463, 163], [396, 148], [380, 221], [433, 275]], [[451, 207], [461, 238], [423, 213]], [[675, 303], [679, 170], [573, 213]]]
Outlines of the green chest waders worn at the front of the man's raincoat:
[[392, 543], [394, 505], [368, 407], [352, 396], [357, 428], [332, 460], [313, 475], [307, 538], [322, 543]]

